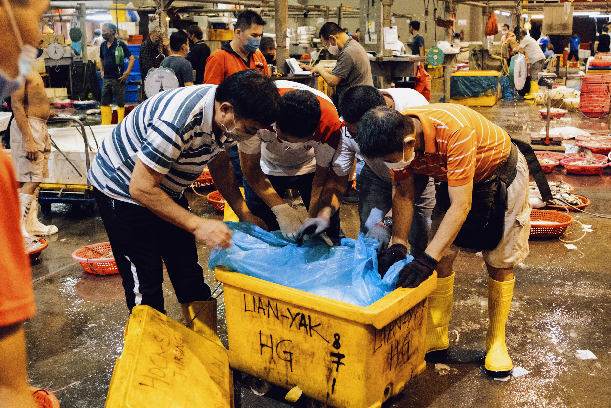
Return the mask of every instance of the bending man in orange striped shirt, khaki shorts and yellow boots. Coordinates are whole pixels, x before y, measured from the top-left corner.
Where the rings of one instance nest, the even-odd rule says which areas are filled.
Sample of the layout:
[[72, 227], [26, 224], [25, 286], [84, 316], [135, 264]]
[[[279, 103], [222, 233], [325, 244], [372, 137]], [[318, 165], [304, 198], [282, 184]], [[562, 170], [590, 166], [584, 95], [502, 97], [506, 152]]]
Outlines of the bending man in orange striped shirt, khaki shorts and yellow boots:
[[[415, 288], [437, 271], [437, 289], [428, 304], [428, 360], [447, 354], [456, 242], [484, 231], [499, 238], [498, 244], [494, 239], [478, 242], [481, 247], [475, 249], [491, 248], [482, 251], [489, 275], [486, 370], [496, 377], [508, 375], [513, 364], [505, 345], [505, 323], [515, 282], [513, 267], [529, 253], [529, 169], [524, 156], [502, 128], [458, 104], [431, 104], [401, 113], [387, 107], [371, 109], [360, 120], [356, 141], [363, 156], [386, 163], [395, 184], [393, 245], [378, 255], [381, 274], [406, 258], [414, 203], [428, 177], [441, 182], [436, 185], [425, 253], [401, 270], [397, 283]], [[475, 224], [478, 227], [472, 228]]]

